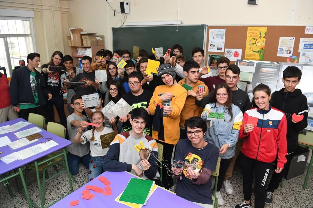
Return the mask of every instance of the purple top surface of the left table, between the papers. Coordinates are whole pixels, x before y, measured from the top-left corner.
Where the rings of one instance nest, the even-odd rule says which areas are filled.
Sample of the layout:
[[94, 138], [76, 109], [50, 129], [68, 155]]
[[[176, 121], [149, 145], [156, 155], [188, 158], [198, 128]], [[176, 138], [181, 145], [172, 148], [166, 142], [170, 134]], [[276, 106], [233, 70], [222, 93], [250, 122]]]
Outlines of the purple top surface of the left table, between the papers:
[[[7, 122], [4, 122], [4, 123], [0, 123], [0, 127], [1, 126], [6, 126], [6, 125], [13, 125], [14, 123], [17, 123], [19, 121], [27, 122], [26, 120], [24, 120], [22, 118], [18, 118], [18, 119], [14, 119], [12, 121], [7, 121]], [[15, 132], [0, 134], [0, 137], [8, 136], [8, 138], [10, 138], [11, 142], [14, 142], [14, 141], [18, 140], [18, 138], [16, 138], [14, 133], [19, 132], [19, 131], [23, 131], [23, 130], [28, 129], [28, 128], [33, 128], [33, 127], [36, 127], [36, 125], [30, 124], [30, 125], [28, 125], [28, 126], [26, 126], [24, 128], [21, 128], [21, 129], [15, 131]], [[39, 132], [39, 133], [41, 135], [43, 135], [44, 138], [48, 138], [49, 136], [52, 137], [52, 140], [54, 142], [58, 143], [59, 145], [54, 146], [54, 147], [52, 147], [52, 148], [50, 148], [50, 149], [48, 149], [48, 150], [46, 150], [44, 152], [41, 152], [41, 153], [39, 153], [37, 155], [34, 155], [32, 157], [28, 157], [28, 158], [26, 158], [24, 160], [15, 160], [15, 161], [13, 161], [13, 162], [11, 162], [9, 164], [6, 164], [2, 160], [0, 160], [0, 167], [1, 167], [0, 168], [0, 175], [3, 174], [3, 173], [6, 173], [8, 171], [11, 171], [13, 169], [16, 169], [18, 167], [21, 167], [23, 165], [26, 165], [26, 164], [28, 164], [30, 162], [33, 162], [33, 161], [35, 161], [35, 160], [37, 160], [37, 159], [39, 159], [41, 157], [44, 157], [44, 156], [46, 156], [46, 155], [48, 155], [48, 154], [50, 154], [52, 152], [55, 152], [55, 151], [57, 151], [59, 149], [62, 149], [64, 147], [66, 147], [66, 146], [69, 146], [71, 144], [71, 142], [69, 140], [61, 138], [61, 137], [58, 137], [58, 136], [54, 135], [53, 133], [47, 132], [44, 129], [43, 129], [42, 132]], [[40, 140], [43, 140], [43, 138], [40, 138]], [[39, 141], [31, 143], [31, 144], [28, 144], [28, 145], [26, 145], [24, 147], [21, 147], [21, 148], [15, 149], [15, 150], [12, 150], [8, 145], [0, 147], [0, 152], [3, 152], [3, 153], [0, 154], [0, 157], [4, 157], [4, 156], [9, 155], [9, 154], [11, 154], [13, 152], [18, 152], [20, 150], [29, 148], [31, 146], [34, 146], [34, 145], [38, 144], [38, 143], [39, 143]]]

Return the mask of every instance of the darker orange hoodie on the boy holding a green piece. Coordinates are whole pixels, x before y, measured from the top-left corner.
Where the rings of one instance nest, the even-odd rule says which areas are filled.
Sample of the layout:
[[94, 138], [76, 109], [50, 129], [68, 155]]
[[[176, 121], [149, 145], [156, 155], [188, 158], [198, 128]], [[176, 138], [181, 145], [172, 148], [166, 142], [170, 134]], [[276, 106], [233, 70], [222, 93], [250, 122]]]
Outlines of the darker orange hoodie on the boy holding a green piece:
[[[178, 82], [178, 85], [183, 85], [185, 84], [186, 79], [182, 79]], [[195, 93], [198, 91], [198, 86], [204, 86], [204, 96], [207, 96], [209, 94], [209, 90], [207, 85], [204, 84], [203, 81], [198, 80], [194, 85], [192, 85], [192, 91]], [[185, 89], [186, 90], [186, 89]], [[187, 96], [185, 105], [182, 109], [182, 112], [180, 114], [180, 122], [179, 126], [184, 127], [185, 121], [193, 116], [201, 116], [203, 112], [203, 107], [198, 107], [195, 103], [195, 97], [189, 95]]]

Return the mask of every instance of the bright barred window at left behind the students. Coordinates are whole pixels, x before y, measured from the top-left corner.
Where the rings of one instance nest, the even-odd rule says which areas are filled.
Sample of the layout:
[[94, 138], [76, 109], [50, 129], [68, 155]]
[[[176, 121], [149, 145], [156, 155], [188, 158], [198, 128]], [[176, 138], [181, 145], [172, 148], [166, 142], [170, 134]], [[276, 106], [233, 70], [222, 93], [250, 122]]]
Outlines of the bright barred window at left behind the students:
[[27, 55], [34, 52], [31, 24], [30, 17], [0, 16], [0, 65], [8, 77], [20, 60], [27, 64]]

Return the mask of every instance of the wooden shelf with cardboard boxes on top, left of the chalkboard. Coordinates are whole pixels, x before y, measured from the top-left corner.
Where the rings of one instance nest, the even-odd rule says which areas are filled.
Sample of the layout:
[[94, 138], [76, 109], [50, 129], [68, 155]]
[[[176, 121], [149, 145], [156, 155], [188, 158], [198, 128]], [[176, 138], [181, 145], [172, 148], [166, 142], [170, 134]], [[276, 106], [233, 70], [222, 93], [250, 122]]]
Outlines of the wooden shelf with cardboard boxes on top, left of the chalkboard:
[[[79, 58], [90, 56], [93, 61], [97, 51], [105, 49], [104, 36], [97, 36], [96, 33], [84, 33], [82, 29], [70, 29], [72, 35], [67, 36], [69, 46], [71, 47], [71, 56], [73, 64], [79, 64]], [[73, 40], [72, 40], [73, 37]]]

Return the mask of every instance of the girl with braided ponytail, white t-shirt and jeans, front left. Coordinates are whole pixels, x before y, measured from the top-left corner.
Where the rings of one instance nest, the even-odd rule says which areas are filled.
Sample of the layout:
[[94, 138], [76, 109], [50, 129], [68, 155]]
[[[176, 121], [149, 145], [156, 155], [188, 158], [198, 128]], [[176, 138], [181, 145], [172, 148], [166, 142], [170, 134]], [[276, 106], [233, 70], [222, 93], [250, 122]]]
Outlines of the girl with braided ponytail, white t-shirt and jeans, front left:
[[113, 132], [112, 128], [103, 125], [105, 117], [101, 111], [93, 112], [91, 114], [91, 121], [98, 126], [92, 126], [92, 129], [85, 133], [83, 133], [83, 129], [79, 127], [73, 141], [74, 143], [81, 144], [89, 142], [91, 157], [88, 168], [88, 181], [93, 180], [102, 173], [102, 164], [109, 150], [109, 148], [102, 149], [100, 136]]

